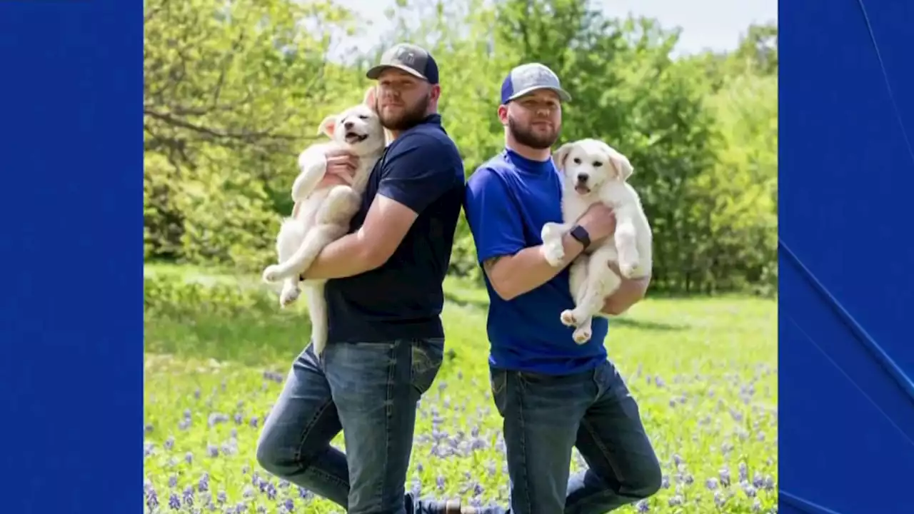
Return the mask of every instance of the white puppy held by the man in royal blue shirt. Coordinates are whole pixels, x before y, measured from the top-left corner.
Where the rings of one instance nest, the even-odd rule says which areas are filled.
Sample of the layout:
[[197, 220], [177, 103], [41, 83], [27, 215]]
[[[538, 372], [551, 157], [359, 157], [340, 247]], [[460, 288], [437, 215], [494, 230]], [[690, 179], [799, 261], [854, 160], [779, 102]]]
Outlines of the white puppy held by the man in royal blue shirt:
[[633, 168], [625, 155], [596, 139], [581, 139], [558, 148], [553, 155], [563, 175], [563, 223], [547, 223], [540, 234], [543, 254], [553, 266], [565, 257], [562, 236], [593, 204], [602, 202], [616, 218], [612, 238], [586, 249], [571, 263], [569, 282], [575, 308], [561, 313], [562, 323], [575, 327], [575, 342], [590, 340], [593, 316], [599, 316], [605, 299], [622, 284], [622, 278], [609, 267], [615, 262], [626, 278], [651, 273], [653, 234], [641, 198], [631, 184]]

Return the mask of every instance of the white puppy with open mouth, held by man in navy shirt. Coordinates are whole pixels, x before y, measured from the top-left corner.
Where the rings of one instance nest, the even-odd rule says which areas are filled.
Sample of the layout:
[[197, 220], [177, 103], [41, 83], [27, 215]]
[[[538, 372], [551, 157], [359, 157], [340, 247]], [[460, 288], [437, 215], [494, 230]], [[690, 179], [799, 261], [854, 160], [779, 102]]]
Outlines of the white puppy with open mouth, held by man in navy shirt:
[[[291, 305], [299, 294], [299, 276], [317, 258], [324, 247], [345, 236], [349, 222], [358, 211], [368, 177], [384, 153], [387, 134], [381, 126], [375, 105], [374, 90], [368, 90], [365, 102], [335, 116], [327, 116], [318, 132], [331, 141], [309, 146], [298, 157], [299, 176], [292, 184], [295, 209], [292, 217], [282, 221], [276, 237], [279, 263], [263, 271], [267, 283], [283, 281], [280, 305]], [[347, 185], [318, 187], [327, 172], [326, 152], [342, 148], [358, 157], [358, 167]], [[307, 280], [308, 312], [311, 317], [314, 353], [320, 355], [326, 345], [327, 312], [324, 280]]]

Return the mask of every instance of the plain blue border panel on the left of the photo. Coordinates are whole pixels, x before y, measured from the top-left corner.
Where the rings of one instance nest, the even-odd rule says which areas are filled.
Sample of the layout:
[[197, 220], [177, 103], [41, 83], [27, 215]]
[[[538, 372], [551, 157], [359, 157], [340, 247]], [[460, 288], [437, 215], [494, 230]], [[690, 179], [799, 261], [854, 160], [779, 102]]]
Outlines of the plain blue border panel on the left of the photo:
[[143, 2], [0, 2], [0, 510], [142, 512]]

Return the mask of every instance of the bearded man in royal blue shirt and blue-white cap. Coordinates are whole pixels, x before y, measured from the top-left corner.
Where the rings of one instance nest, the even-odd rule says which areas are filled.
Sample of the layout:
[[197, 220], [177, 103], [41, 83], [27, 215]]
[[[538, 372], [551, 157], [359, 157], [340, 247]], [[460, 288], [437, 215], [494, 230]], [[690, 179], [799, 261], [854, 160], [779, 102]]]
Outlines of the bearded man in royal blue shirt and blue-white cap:
[[[511, 514], [600, 514], [653, 495], [661, 482], [638, 405], [603, 347], [608, 320], [594, 318], [593, 336], [578, 345], [559, 319], [574, 307], [567, 265], [611, 235], [610, 209], [591, 208], [565, 236], [565, 267], [540, 252], [543, 224], [562, 220], [562, 177], [550, 147], [567, 101], [547, 67], [511, 70], [498, 108], [505, 150], [476, 169], [464, 200], [490, 298], [489, 363], [504, 418]], [[648, 282], [623, 282], [603, 312], [624, 312]], [[589, 469], [569, 477], [572, 447]]]

